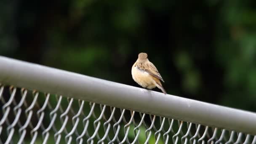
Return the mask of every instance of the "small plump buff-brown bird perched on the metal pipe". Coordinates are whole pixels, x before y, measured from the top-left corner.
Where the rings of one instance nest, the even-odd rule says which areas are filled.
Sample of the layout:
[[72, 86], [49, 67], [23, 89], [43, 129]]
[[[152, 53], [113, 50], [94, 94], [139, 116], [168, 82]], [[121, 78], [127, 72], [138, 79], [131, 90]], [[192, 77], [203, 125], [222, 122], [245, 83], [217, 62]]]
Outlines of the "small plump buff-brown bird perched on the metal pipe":
[[166, 94], [160, 82], [160, 80], [163, 81], [163, 78], [154, 64], [147, 59], [147, 53], [139, 53], [137, 61], [131, 68], [131, 75], [133, 80], [143, 88], [152, 89], [157, 87]]

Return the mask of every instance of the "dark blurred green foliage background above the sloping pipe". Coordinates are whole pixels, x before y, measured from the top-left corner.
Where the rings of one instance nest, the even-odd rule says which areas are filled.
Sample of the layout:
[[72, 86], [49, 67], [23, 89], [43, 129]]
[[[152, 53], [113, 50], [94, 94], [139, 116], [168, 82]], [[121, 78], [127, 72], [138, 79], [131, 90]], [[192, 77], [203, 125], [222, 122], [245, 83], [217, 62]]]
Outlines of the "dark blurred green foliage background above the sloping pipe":
[[256, 112], [255, 8], [255, 0], [1, 0], [0, 55], [139, 87], [131, 67], [146, 52], [169, 94]]

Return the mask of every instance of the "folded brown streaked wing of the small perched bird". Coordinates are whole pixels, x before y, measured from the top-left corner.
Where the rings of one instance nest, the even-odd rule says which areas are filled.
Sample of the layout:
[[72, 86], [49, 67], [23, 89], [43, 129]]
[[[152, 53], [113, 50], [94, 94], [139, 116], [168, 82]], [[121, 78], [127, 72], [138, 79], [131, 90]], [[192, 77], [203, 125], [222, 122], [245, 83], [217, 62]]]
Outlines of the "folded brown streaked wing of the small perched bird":
[[154, 64], [152, 64], [152, 62], [148, 61], [143, 64], [141, 63], [141, 66], [138, 68], [148, 72], [149, 75], [152, 75], [153, 77], [156, 77], [159, 80], [162, 80], [163, 82], [165, 82], [162, 76], [160, 75], [160, 73], [158, 72], [157, 68], [154, 66]]

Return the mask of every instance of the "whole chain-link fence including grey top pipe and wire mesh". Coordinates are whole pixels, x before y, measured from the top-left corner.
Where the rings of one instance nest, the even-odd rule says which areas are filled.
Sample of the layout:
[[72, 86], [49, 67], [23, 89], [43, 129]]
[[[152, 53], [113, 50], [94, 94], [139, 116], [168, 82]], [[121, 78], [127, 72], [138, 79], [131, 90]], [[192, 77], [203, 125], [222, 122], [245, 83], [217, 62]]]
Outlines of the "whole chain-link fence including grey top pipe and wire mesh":
[[253, 112], [3, 56], [0, 100], [0, 144], [256, 144]]

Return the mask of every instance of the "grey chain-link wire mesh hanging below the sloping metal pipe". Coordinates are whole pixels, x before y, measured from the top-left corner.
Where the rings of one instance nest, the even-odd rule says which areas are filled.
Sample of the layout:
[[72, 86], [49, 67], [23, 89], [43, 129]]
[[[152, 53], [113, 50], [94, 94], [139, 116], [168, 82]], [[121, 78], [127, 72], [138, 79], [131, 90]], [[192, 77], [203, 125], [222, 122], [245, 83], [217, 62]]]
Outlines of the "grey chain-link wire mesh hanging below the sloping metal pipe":
[[256, 136], [0, 85], [0, 143], [256, 144]]

